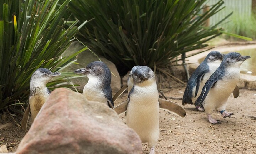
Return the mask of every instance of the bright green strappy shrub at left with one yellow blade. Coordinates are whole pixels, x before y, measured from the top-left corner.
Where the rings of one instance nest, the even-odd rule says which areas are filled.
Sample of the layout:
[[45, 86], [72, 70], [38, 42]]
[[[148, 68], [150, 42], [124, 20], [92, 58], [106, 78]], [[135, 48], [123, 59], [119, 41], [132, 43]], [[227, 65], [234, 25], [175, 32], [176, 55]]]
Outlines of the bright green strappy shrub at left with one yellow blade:
[[[0, 1], [0, 110], [6, 106], [27, 101], [29, 80], [40, 67], [61, 71], [72, 58], [60, 58], [77, 33], [76, 22], [67, 29], [63, 14], [65, 0], [1, 0]], [[65, 81], [68, 76], [50, 83]]]

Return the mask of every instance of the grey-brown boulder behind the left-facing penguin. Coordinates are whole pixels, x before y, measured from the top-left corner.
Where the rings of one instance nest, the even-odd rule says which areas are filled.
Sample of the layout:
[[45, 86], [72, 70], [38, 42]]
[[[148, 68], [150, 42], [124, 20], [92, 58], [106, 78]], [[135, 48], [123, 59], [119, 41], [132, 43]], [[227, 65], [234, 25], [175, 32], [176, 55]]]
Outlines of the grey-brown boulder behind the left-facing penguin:
[[[81, 50], [82, 48], [84, 48], [84, 46], [81, 43], [73, 42], [73, 43], [71, 43], [69, 48], [67, 48], [67, 50], [64, 51], [62, 56], [63, 57], [70, 56], [70, 55], [74, 54], [75, 52]], [[121, 88], [121, 78], [120, 78], [120, 75], [117, 71], [115, 64], [112, 63], [111, 61], [107, 60], [103, 56], [100, 56], [99, 52], [97, 52], [97, 51], [93, 51], [93, 52], [100, 58], [100, 60], [102, 62], [104, 62], [109, 67], [110, 71], [112, 72], [111, 88], [112, 88], [112, 92], [116, 93]], [[89, 50], [83, 51], [76, 57], [76, 59], [77, 59], [76, 63], [79, 63], [79, 64], [71, 64], [70, 66], [65, 68], [64, 71], [73, 72], [76, 69], [84, 68], [92, 61], [99, 61], [99, 59], [97, 58], [97, 56], [94, 55], [94, 53], [92, 53]], [[74, 84], [79, 84], [80, 86], [77, 86], [77, 89], [83, 91], [84, 85], [86, 85], [86, 83], [88, 82], [88, 78], [87, 77], [74, 78], [74, 79], [71, 79], [71, 81]]]

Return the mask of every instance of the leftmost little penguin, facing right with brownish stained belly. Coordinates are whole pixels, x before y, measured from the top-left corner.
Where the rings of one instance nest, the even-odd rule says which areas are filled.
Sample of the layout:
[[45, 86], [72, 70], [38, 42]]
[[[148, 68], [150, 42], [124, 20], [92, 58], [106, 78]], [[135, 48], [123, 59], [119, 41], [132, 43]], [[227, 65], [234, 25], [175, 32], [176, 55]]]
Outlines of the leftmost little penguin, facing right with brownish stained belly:
[[49, 89], [46, 84], [54, 77], [60, 76], [60, 73], [53, 73], [46, 68], [38, 68], [31, 76], [30, 79], [30, 96], [29, 106], [27, 107], [24, 116], [22, 118], [22, 129], [26, 130], [26, 125], [29, 116], [29, 109], [31, 111], [31, 121], [33, 122], [37, 113], [41, 109], [42, 105], [50, 95]]

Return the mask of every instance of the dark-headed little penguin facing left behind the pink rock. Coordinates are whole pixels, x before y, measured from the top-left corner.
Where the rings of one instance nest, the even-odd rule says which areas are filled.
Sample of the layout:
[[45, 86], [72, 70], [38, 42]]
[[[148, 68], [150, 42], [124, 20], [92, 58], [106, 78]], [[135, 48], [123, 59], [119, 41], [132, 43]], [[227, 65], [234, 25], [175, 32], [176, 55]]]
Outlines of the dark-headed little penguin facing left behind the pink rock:
[[94, 61], [85, 68], [75, 70], [74, 73], [84, 74], [88, 77], [88, 82], [83, 89], [83, 95], [88, 100], [106, 103], [110, 108], [114, 108], [110, 86], [111, 72], [105, 63]]

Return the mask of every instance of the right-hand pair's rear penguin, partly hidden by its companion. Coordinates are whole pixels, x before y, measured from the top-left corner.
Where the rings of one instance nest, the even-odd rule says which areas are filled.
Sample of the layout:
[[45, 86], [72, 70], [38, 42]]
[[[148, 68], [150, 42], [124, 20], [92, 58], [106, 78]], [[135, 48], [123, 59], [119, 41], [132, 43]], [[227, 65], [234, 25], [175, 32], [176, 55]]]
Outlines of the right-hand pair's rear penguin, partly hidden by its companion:
[[[186, 89], [183, 94], [182, 105], [194, 104], [200, 93], [205, 82], [212, 75], [212, 73], [220, 66], [220, 63], [225, 54], [218, 51], [211, 51], [200, 63], [200, 65], [192, 73], [191, 77], [187, 82]], [[200, 106], [196, 106], [199, 111], [204, 111]]]

